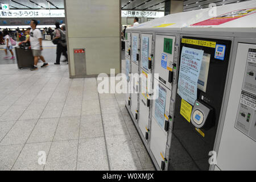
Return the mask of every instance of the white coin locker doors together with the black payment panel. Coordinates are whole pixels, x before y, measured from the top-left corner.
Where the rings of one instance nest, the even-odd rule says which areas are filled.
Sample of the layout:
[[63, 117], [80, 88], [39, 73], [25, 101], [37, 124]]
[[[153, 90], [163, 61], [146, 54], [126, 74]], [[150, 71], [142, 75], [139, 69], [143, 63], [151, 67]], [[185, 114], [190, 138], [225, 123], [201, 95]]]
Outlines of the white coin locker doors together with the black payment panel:
[[[233, 38], [153, 32], [127, 32], [126, 38], [131, 89], [126, 107], [156, 168], [208, 170], [208, 153], [214, 148], [225, 100]], [[185, 54], [189, 51], [202, 56], [196, 92], [191, 82], [184, 82], [192, 80], [193, 68], [184, 66], [191, 59]]]

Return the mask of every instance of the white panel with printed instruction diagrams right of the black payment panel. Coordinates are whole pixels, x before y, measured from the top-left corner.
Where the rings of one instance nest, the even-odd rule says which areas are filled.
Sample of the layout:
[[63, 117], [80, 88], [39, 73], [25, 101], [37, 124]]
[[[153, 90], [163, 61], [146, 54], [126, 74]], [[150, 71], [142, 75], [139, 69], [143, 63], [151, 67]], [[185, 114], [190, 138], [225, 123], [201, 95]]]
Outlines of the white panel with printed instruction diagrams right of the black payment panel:
[[[254, 65], [254, 71], [248, 71], [249, 64]], [[243, 86], [250, 72], [254, 72], [251, 76], [256, 78], [255, 68], [256, 44], [238, 43], [229, 102], [217, 153], [217, 166], [221, 170], [256, 170], [256, 105], [251, 103], [255, 95], [247, 92], [247, 88]], [[250, 97], [243, 99], [243, 95]], [[250, 118], [247, 117], [248, 112]]]

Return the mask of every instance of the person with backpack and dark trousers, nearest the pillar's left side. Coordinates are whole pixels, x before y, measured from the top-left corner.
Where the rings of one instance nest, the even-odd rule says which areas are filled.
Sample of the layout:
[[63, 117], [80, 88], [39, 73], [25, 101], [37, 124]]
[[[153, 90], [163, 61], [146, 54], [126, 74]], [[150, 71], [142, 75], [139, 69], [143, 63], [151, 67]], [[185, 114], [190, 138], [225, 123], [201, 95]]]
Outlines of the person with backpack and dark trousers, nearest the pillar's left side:
[[57, 50], [56, 50], [56, 63], [54, 64], [60, 64], [60, 57], [61, 57], [61, 53], [63, 53], [63, 55], [66, 57], [66, 59], [68, 60], [68, 55], [67, 55], [67, 51], [64, 52], [64, 47], [67, 47], [67, 43], [65, 41], [65, 34], [64, 32], [60, 29], [60, 23], [56, 22], [55, 23], [55, 31], [53, 33], [53, 43], [57, 44]]

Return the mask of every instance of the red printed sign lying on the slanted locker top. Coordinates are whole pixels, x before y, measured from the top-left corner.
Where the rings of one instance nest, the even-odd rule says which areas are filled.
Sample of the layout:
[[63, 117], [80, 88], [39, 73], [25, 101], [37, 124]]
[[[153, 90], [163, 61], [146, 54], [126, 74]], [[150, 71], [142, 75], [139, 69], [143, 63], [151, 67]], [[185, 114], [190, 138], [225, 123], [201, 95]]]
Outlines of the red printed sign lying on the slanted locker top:
[[204, 20], [203, 22], [192, 24], [191, 26], [220, 25], [220, 24], [230, 22], [230, 21], [238, 19], [238, 18], [242, 18], [243, 16], [247, 16], [247, 15], [250, 15], [250, 14], [253, 14], [253, 13], [256, 13], [256, 8], [231, 11], [229, 13]]

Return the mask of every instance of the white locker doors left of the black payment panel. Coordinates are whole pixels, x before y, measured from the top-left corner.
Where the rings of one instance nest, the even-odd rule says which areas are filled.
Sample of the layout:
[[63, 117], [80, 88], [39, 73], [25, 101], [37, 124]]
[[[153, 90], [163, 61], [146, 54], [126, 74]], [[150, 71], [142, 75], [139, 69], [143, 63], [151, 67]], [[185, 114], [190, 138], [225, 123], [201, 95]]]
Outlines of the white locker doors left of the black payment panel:
[[[126, 105], [147, 150], [161, 169], [166, 167], [167, 140], [174, 110], [172, 88], [176, 87], [179, 55], [176, 36], [126, 34], [126, 75], [130, 75], [127, 81], [131, 90], [126, 94]], [[154, 60], [162, 60], [162, 63]]]

